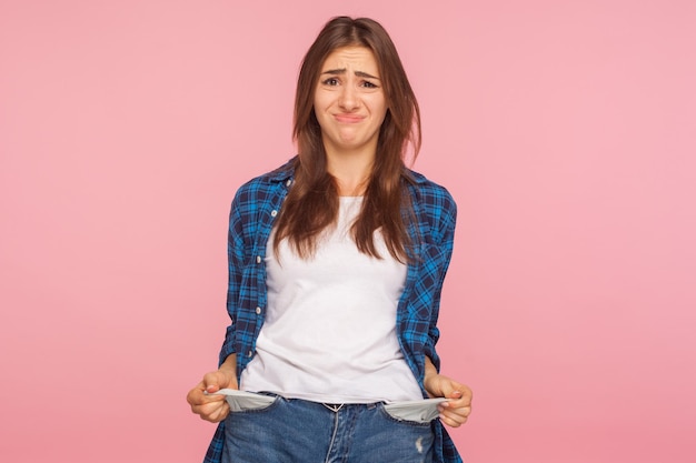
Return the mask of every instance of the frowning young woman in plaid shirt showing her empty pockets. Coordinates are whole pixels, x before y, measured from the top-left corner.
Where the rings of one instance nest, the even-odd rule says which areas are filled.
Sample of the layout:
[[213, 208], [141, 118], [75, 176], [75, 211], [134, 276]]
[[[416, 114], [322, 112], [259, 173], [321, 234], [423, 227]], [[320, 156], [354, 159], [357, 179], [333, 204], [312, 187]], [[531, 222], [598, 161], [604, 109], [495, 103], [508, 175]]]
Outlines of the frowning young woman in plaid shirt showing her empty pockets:
[[435, 351], [456, 205], [405, 167], [418, 103], [379, 23], [325, 26], [294, 134], [298, 155], [232, 202], [231, 324], [187, 397], [219, 423], [206, 462], [460, 462], [443, 423], [471, 391]]

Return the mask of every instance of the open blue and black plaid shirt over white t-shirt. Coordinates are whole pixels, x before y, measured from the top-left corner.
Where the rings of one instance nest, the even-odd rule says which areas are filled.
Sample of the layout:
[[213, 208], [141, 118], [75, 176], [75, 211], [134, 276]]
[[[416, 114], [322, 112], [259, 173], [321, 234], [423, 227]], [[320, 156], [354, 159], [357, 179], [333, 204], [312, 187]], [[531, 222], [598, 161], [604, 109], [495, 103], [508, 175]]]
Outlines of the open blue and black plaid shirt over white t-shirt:
[[[420, 384], [424, 397], [425, 356], [439, 370], [435, 344], [440, 290], [449, 265], [457, 207], [451, 195], [425, 177], [409, 171], [414, 218], [408, 233], [415, 258], [408, 264], [406, 285], [397, 308], [397, 333], [404, 356]], [[253, 358], [268, 300], [266, 245], [274, 220], [292, 184], [292, 161], [243, 184], [232, 202], [229, 222], [229, 284], [227, 328], [220, 363], [237, 353], [237, 376]], [[434, 421], [435, 462], [461, 462], [439, 420]], [[225, 446], [225, 422], [218, 425], [205, 463], [219, 463]]]

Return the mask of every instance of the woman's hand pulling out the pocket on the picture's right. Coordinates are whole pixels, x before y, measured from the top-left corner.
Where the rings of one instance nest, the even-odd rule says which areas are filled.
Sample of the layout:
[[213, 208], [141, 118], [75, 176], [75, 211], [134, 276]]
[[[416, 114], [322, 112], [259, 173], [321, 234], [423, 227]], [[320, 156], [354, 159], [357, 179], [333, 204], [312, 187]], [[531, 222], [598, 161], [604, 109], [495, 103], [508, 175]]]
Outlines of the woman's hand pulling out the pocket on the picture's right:
[[473, 393], [469, 386], [439, 374], [427, 356], [424, 385], [430, 397], [449, 399], [438, 405], [443, 423], [453, 427], [466, 423], [471, 413]]

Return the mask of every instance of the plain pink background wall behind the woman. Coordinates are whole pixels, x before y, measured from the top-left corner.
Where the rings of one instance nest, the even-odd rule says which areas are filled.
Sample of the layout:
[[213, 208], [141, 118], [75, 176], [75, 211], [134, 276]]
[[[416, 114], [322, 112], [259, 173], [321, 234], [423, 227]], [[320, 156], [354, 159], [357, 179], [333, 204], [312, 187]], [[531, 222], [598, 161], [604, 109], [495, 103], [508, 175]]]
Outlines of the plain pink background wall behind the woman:
[[341, 13], [391, 33], [459, 204], [465, 460], [696, 461], [696, 3], [340, 3], [0, 2], [0, 461], [200, 461], [229, 202]]

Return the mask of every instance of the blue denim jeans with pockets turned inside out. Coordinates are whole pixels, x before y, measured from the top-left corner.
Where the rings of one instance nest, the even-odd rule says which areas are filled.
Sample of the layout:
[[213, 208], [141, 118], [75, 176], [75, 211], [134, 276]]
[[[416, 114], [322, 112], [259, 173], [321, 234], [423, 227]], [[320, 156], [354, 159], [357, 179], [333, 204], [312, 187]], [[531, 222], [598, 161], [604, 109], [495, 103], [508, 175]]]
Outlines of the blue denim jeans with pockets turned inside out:
[[231, 412], [223, 463], [431, 463], [430, 422], [398, 420], [381, 403], [326, 405], [277, 396]]

